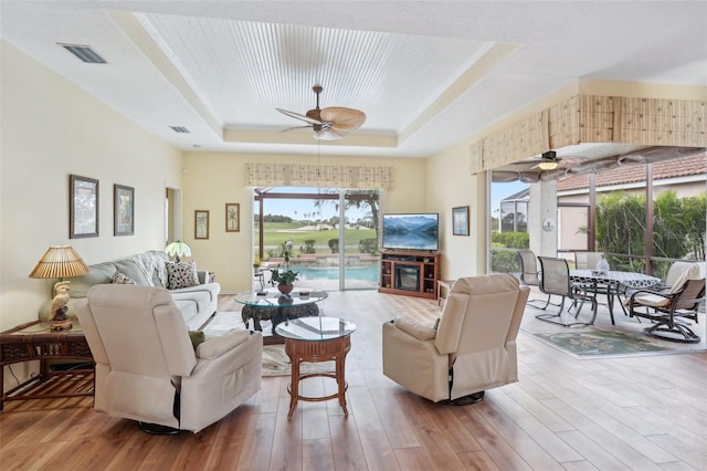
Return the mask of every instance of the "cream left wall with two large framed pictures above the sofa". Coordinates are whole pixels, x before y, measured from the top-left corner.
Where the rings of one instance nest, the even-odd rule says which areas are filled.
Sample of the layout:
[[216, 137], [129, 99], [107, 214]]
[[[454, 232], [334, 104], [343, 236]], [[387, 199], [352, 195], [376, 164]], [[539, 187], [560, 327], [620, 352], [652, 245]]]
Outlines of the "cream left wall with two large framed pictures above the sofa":
[[[49, 245], [71, 244], [89, 264], [163, 247], [165, 182], [181, 182], [181, 151], [7, 42], [0, 52], [4, 331], [51, 297], [52, 280], [28, 276]], [[99, 180], [97, 238], [68, 239], [70, 174]], [[114, 184], [135, 188], [135, 236], [113, 236]]]

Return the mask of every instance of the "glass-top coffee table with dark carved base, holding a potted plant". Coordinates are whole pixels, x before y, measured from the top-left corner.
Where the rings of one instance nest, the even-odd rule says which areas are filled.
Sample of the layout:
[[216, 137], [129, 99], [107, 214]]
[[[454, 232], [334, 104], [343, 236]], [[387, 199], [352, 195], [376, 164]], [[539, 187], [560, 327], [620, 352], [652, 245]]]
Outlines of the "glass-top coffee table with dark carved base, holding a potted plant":
[[241, 310], [243, 324], [247, 327], [253, 320], [253, 328], [263, 332], [261, 321], [270, 320], [273, 324], [273, 335], [264, 336], [264, 344], [283, 343], [276, 333], [277, 325], [292, 318], [318, 316], [319, 307], [316, 303], [326, 300], [325, 291], [297, 290], [289, 294], [279, 291], [251, 291], [235, 295], [235, 302], [244, 304]]

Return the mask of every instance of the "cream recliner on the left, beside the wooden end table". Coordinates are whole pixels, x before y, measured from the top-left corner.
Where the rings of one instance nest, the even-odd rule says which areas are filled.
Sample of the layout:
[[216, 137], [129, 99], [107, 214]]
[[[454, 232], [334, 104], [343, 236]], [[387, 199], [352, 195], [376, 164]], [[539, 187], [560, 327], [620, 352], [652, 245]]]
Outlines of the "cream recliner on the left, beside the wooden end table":
[[262, 334], [233, 331], [194, 350], [162, 287], [95, 285], [75, 311], [96, 363], [94, 408], [145, 431], [197, 432], [261, 389]]

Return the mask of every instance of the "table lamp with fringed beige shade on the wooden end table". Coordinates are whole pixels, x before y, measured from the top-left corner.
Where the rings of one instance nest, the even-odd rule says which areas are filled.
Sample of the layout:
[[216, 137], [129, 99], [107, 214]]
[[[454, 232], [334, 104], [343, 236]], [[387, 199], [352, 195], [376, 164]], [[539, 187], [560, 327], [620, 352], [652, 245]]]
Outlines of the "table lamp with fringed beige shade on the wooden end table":
[[56, 278], [54, 299], [49, 314], [52, 331], [71, 329], [71, 320], [66, 316], [68, 302], [68, 280], [64, 278], [80, 276], [88, 273], [88, 265], [71, 245], [52, 245], [40, 259], [30, 278]]

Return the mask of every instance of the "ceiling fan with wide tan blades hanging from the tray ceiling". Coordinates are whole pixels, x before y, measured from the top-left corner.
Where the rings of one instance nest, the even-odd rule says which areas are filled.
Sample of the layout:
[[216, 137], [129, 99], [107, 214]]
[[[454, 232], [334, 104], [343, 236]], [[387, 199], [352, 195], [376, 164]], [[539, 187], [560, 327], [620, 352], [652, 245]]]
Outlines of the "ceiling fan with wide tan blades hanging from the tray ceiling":
[[329, 106], [320, 109], [319, 94], [324, 88], [321, 87], [321, 85], [315, 85], [312, 87], [312, 90], [317, 95], [317, 107], [314, 109], [309, 109], [306, 114], [302, 115], [299, 113], [291, 112], [287, 109], [275, 108], [286, 116], [307, 123], [304, 126], [289, 127], [284, 130], [312, 127], [314, 129], [315, 139], [337, 140], [342, 139], [351, 132], [358, 129], [366, 121], [366, 114], [354, 108]]

